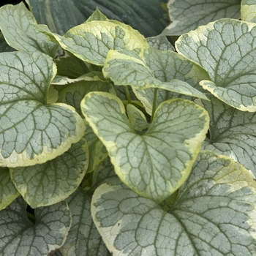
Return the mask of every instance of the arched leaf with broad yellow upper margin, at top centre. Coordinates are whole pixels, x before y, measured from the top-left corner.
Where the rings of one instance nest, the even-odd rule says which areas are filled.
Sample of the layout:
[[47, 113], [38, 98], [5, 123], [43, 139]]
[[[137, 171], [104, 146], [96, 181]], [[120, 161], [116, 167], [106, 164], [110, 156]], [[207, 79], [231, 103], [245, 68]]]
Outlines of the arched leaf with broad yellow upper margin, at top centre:
[[53, 42], [59, 42], [79, 59], [103, 66], [109, 50], [129, 49], [143, 54], [146, 39], [132, 27], [115, 20], [89, 20], [67, 31], [63, 37], [51, 33], [46, 26], [37, 26]]

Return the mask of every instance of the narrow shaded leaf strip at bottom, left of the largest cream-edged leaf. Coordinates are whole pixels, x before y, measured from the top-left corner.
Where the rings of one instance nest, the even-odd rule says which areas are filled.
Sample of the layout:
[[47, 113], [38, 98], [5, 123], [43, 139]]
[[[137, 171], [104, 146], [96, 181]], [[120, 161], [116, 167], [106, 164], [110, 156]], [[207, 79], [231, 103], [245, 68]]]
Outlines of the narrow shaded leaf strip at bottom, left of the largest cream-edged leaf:
[[92, 221], [91, 197], [78, 187], [66, 201], [72, 214], [72, 225], [67, 240], [60, 249], [63, 255], [109, 255], [108, 249]]

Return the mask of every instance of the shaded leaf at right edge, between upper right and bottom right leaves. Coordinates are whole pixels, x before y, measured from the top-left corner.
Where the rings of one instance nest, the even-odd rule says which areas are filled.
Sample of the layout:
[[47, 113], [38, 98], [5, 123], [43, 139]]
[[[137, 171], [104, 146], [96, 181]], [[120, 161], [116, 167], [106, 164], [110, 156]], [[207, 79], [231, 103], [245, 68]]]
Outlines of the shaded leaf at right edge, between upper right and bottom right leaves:
[[202, 149], [225, 154], [256, 176], [256, 113], [244, 113], [214, 96], [203, 105], [210, 116], [210, 140]]

